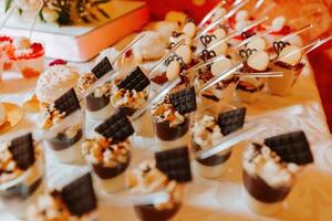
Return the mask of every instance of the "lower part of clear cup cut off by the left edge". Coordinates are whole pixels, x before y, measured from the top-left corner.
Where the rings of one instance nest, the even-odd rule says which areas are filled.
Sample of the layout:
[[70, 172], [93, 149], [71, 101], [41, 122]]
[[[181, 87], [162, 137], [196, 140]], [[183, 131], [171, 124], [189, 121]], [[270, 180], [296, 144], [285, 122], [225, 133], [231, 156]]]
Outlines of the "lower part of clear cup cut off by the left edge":
[[15, 179], [0, 185], [0, 203], [6, 211], [18, 219], [24, 219], [29, 203], [45, 188], [44, 168], [44, 156], [40, 149], [30, 168]]

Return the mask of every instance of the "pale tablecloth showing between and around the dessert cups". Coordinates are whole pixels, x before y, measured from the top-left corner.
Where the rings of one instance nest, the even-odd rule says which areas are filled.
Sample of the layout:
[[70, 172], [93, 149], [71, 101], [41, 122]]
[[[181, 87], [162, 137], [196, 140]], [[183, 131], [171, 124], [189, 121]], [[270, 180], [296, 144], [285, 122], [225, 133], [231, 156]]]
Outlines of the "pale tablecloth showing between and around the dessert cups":
[[[127, 41], [123, 40], [117, 46], [121, 48]], [[85, 70], [91, 63], [73, 65]], [[21, 78], [14, 72], [6, 73], [3, 77], [3, 82], [0, 83], [0, 102], [21, 106], [33, 95], [37, 78]], [[248, 120], [257, 120], [268, 128], [255, 139], [302, 129], [311, 144], [315, 162], [300, 176], [286, 200], [283, 211], [273, 217], [257, 215], [241, 199], [241, 150], [246, 146], [246, 143], [242, 143], [234, 150], [230, 166], [221, 178], [207, 180], [194, 171], [194, 181], [187, 185], [184, 204], [173, 220], [332, 220], [332, 139], [310, 65], [303, 70], [290, 96], [278, 97], [264, 93], [258, 103], [245, 106], [248, 109]], [[18, 133], [33, 130], [37, 123], [35, 114], [25, 113], [17, 127], [0, 135], [0, 140], [9, 139]], [[89, 124], [91, 127], [95, 125]], [[153, 137], [136, 137], [133, 141], [135, 149], [132, 166], [153, 157]], [[51, 187], [69, 182], [87, 169], [86, 166], [59, 164], [46, 148], [46, 179]], [[131, 206], [118, 206], [116, 202], [112, 203], [112, 200], [100, 201], [100, 211], [101, 220], [137, 219]], [[0, 210], [0, 220], [15, 219]]]

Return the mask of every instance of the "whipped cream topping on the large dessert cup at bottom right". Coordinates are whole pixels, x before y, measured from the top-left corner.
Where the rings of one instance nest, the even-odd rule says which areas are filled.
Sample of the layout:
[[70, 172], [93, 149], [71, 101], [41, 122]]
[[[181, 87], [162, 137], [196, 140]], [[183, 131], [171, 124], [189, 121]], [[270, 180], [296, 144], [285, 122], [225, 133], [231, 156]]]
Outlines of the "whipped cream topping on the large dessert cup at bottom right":
[[274, 188], [290, 187], [300, 169], [295, 164], [283, 162], [269, 147], [259, 144], [250, 144], [245, 150], [243, 168]]

